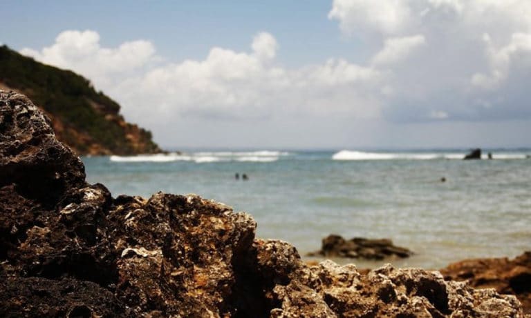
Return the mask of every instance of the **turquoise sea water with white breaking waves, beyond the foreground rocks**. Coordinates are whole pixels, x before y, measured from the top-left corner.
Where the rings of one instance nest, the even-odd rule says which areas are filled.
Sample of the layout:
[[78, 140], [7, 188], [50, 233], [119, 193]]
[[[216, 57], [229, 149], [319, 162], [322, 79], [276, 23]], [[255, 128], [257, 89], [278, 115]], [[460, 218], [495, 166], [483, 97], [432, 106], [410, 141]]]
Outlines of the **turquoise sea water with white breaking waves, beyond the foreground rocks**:
[[416, 252], [387, 260], [395, 266], [531, 250], [531, 150], [493, 150], [494, 160], [481, 161], [460, 160], [465, 152], [190, 151], [83, 161], [88, 181], [113, 196], [196, 193], [249, 212], [257, 237], [289, 241], [301, 255], [330, 233], [386, 237]]

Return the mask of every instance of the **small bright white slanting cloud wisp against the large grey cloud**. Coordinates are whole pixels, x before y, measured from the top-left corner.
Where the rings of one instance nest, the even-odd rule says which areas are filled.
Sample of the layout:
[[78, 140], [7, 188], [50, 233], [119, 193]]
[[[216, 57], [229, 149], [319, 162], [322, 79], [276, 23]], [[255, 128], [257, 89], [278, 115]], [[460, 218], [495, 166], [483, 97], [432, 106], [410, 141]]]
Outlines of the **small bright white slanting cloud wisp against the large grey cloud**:
[[406, 59], [409, 54], [425, 44], [422, 34], [411, 37], [393, 37], [384, 41], [384, 48], [373, 57], [373, 63], [387, 65], [398, 63]]

